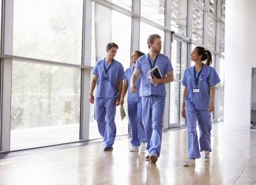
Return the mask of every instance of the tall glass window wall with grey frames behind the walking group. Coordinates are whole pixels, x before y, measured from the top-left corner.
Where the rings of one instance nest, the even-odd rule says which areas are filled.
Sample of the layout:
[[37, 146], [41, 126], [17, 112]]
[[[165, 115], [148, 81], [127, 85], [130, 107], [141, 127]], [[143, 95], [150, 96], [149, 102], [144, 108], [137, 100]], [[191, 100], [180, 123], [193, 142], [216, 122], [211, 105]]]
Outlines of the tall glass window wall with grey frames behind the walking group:
[[[188, 56], [194, 46], [213, 51], [213, 66], [218, 67], [221, 79], [216, 87], [220, 97], [216, 98], [219, 110], [215, 116], [216, 120], [223, 118], [224, 0], [13, 2], [13, 7], [4, 7], [7, 8], [4, 13], [13, 12], [13, 20], [0, 22], [13, 28], [13, 38], [3, 35], [6, 42], [1, 44], [8, 51], [13, 50], [12, 68], [3, 73], [12, 77], [7, 87], [11, 91], [6, 96], [10, 105], [1, 105], [3, 109], [11, 106], [11, 120], [1, 123], [2, 128], [10, 128], [5, 130], [8, 134], [1, 141], [7, 143], [10, 139], [9, 150], [100, 139], [94, 107], [84, 97], [89, 89], [89, 83], [85, 82], [92, 76], [85, 68], [92, 70], [96, 61], [106, 57], [106, 45], [111, 42], [119, 45], [115, 59], [125, 69], [129, 68], [131, 50], [147, 54], [147, 39], [151, 34], [161, 36], [161, 53], [166, 49], [175, 70], [175, 82], [166, 85], [169, 111], [164, 114], [164, 121], [168, 121], [164, 122], [164, 128], [186, 124], [180, 115], [184, 88], [181, 80], [185, 68], [194, 65]], [[133, 7], [133, 2], [140, 5], [140, 10]], [[220, 48], [216, 48], [219, 46], [216, 43], [220, 43]], [[2, 89], [4, 86], [1, 84]], [[125, 109], [127, 112], [126, 102]], [[117, 135], [127, 135], [128, 119], [121, 121], [119, 106], [115, 122]]]

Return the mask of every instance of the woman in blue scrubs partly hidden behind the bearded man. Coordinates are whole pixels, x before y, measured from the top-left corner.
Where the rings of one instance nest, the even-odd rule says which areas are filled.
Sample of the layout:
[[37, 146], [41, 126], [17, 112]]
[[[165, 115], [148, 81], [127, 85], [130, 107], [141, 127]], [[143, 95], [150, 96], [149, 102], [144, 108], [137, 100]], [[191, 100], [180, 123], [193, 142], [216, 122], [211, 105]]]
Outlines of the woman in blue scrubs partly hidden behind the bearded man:
[[[139, 50], [135, 50], [134, 53], [131, 55], [131, 62], [133, 66], [127, 68], [122, 76], [122, 94], [120, 99], [120, 104], [122, 105], [124, 102], [124, 98], [126, 96], [126, 91], [128, 87], [130, 87], [130, 77], [134, 72], [134, 65], [137, 61], [138, 57], [143, 56]], [[141, 85], [141, 76], [137, 79], [137, 88]], [[142, 103], [139, 91], [136, 93], [131, 93], [128, 91], [128, 117], [129, 117], [129, 124], [130, 124], [130, 131], [131, 131], [131, 147], [130, 152], [145, 152], [146, 150], [146, 142], [147, 138], [145, 135], [144, 125], [142, 124]]]

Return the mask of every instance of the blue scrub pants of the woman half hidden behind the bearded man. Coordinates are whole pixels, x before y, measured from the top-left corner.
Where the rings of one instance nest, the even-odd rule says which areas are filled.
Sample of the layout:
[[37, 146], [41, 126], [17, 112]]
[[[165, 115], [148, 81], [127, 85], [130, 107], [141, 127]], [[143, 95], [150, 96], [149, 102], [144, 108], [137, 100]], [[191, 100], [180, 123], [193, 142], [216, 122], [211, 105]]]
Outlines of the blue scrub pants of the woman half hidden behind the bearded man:
[[132, 146], [140, 146], [141, 142], [147, 142], [144, 125], [142, 124], [142, 103], [128, 101], [128, 116], [132, 139]]

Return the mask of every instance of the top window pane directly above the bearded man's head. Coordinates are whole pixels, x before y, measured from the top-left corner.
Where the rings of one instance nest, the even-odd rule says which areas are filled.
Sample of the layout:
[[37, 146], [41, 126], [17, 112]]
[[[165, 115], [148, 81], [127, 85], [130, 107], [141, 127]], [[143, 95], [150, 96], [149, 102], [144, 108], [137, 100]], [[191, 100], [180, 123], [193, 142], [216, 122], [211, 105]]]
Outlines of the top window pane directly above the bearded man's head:
[[141, 0], [141, 16], [164, 26], [164, 0]]

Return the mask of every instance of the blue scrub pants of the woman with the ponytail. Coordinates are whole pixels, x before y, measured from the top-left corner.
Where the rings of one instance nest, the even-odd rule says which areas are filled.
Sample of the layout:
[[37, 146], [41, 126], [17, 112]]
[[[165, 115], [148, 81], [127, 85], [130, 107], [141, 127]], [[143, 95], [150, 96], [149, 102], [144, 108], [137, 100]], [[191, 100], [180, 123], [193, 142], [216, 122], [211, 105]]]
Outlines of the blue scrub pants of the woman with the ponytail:
[[[194, 104], [186, 100], [186, 124], [187, 124], [187, 151], [189, 157], [200, 158], [200, 151], [211, 152], [212, 123], [208, 110], [196, 109]], [[199, 126], [199, 143], [197, 134], [197, 120]], [[200, 144], [200, 150], [199, 150]]]

